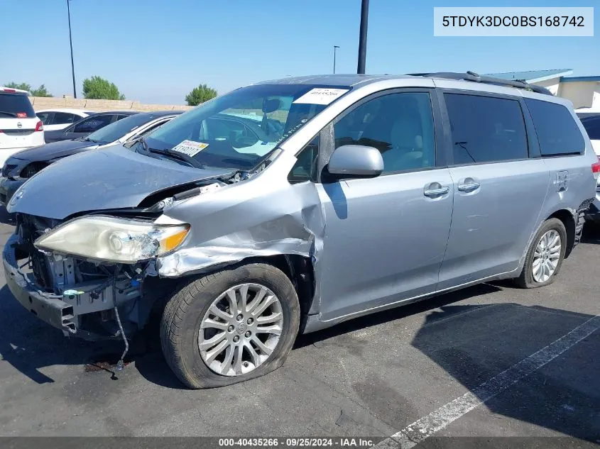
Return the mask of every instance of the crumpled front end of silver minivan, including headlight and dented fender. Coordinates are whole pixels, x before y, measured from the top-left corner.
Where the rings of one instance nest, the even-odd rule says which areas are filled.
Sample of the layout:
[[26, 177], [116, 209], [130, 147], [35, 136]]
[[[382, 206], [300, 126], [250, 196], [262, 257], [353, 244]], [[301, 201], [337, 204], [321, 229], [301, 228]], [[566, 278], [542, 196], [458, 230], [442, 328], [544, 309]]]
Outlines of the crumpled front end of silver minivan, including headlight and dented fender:
[[[98, 163], [137, 158], [110, 150], [84, 156]], [[75, 162], [50, 167], [50, 174], [75, 177]], [[285, 173], [294, 162], [293, 155], [281, 154], [270, 166], [276, 170], [206, 171], [178, 182], [151, 182], [144, 172], [143, 182], [131, 188], [114, 177], [98, 190], [90, 179], [76, 183], [82, 187], [69, 201], [56, 201], [67, 196], [64, 183], [49, 192], [52, 177], [33, 177], [8, 208], [16, 214], [3, 257], [9, 289], [66, 336], [121, 339], [163, 309], [182, 277], [260, 259], [287, 272], [310, 298], [305, 313], [315, 314], [322, 208], [314, 184], [288, 182]], [[156, 174], [153, 166], [148, 170]]]

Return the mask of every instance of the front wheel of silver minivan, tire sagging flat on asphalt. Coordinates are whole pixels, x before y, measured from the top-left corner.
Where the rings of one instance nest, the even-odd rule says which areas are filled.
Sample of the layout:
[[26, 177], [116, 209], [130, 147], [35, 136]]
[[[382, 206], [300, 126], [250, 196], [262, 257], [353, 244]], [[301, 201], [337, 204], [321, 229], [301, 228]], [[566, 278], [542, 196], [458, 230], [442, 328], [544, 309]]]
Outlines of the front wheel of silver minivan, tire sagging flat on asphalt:
[[165, 306], [160, 343], [187, 387], [222, 387], [283, 365], [299, 325], [290, 279], [272, 265], [253, 263], [183, 284]]

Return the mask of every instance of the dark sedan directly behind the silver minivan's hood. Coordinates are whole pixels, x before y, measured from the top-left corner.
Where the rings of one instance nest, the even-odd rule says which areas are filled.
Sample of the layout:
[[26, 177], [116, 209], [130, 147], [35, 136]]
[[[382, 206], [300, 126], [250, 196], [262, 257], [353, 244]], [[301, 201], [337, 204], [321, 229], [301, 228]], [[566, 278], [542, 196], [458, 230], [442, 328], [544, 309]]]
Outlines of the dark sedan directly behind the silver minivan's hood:
[[136, 113], [100, 128], [87, 137], [75, 140], [60, 140], [36, 148], [29, 148], [9, 157], [2, 167], [0, 177], [0, 204], [8, 201], [23, 182], [63, 157], [87, 150], [104, 148], [117, 143], [126, 143], [155, 130], [181, 111], [156, 111]]

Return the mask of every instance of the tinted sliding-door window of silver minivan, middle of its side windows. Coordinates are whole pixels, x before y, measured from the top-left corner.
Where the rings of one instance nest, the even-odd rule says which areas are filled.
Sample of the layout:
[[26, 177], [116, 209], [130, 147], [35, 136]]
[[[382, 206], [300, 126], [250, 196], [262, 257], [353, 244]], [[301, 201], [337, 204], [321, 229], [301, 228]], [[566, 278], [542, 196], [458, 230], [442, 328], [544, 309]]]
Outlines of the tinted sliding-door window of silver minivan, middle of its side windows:
[[525, 159], [527, 133], [517, 100], [444, 94], [454, 165]]

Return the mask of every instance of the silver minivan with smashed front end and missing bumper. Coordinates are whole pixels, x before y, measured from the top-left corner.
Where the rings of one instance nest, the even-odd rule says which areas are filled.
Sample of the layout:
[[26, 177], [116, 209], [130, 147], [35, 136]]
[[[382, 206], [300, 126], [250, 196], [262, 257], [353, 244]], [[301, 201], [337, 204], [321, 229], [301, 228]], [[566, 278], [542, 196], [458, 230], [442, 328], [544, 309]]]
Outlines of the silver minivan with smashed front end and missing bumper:
[[[192, 388], [275, 370], [299, 331], [492, 279], [545, 286], [600, 173], [546, 93], [448, 73], [236, 89], [31, 177], [6, 283], [68, 336], [126, 339], [162, 311]], [[249, 111], [260, 139], [234, 121]]]

